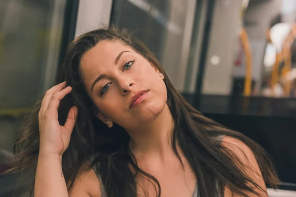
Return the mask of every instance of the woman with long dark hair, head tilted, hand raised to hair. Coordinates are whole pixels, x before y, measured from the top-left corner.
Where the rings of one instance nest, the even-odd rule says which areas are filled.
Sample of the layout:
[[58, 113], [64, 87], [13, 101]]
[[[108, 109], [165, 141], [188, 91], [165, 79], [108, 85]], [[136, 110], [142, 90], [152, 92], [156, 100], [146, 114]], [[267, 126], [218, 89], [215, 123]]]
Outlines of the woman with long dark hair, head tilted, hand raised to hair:
[[124, 30], [77, 37], [56, 84], [15, 144], [12, 172], [37, 161], [35, 197], [266, 197], [264, 181], [278, 184], [263, 149], [191, 107]]

